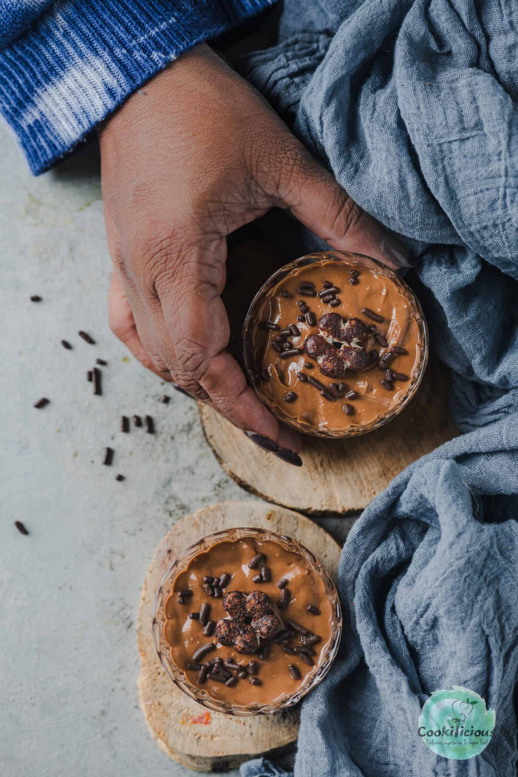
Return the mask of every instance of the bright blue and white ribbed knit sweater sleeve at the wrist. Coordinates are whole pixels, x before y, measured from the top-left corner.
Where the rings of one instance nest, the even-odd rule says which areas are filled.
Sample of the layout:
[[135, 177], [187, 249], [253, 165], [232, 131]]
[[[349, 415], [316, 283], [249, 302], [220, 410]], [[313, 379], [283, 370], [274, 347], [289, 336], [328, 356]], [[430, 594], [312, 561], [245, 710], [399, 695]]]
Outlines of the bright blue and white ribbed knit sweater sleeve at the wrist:
[[0, 111], [34, 173], [203, 40], [273, 0], [0, 0]]

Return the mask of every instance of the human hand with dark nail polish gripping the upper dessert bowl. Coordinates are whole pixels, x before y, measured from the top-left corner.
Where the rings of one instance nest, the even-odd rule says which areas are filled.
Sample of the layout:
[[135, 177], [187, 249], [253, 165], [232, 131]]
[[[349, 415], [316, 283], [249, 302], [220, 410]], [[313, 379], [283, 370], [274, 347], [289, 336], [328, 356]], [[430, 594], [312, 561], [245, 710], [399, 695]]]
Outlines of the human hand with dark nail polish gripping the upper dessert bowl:
[[335, 249], [396, 269], [404, 249], [205, 44], [131, 96], [99, 136], [113, 332], [145, 367], [299, 464], [300, 436], [225, 350], [226, 235], [277, 206]]

